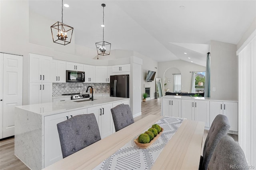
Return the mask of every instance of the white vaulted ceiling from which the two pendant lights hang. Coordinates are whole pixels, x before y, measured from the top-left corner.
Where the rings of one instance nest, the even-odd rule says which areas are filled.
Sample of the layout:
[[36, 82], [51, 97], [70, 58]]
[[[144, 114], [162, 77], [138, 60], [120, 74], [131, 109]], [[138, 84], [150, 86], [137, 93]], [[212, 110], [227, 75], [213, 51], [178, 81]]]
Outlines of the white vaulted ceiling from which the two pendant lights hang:
[[[210, 40], [237, 44], [256, 17], [255, 0], [64, 0], [63, 22], [74, 27], [75, 43], [95, 50], [133, 50], [156, 61], [205, 65]], [[30, 10], [61, 21], [61, 0], [30, 0]], [[184, 54], [187, 53], [187, 54]], [[89, 56], [94, 58], [95, 55]], [[188, 59], [188, 57], [190, 59]]]

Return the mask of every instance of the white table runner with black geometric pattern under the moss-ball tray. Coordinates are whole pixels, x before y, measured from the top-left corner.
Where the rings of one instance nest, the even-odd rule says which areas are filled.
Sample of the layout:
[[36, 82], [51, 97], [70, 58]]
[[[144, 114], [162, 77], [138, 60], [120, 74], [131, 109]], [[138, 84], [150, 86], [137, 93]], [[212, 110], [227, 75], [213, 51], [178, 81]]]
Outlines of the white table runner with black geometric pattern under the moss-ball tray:
[[[125, 144], [122, 148], [100, 163], [94, 168], [94, 170], [148, 170], [150, 169], [159, 154], [162, 152], [164, 146], [172, 138], [175, 132], [178, 130], [184, 118], [174, 118], [165, 116], [158, 120], [156, 124], [159, 124], [164, 128], [162, 135], [147, 149], [139, 148], [135, 143], [134, 138]], [[149, 125], [150, 127], [152, 125]], [[148, 127], [148, 128], [150, 128]], [[144, 133], [145, 129], [142, 133]]]

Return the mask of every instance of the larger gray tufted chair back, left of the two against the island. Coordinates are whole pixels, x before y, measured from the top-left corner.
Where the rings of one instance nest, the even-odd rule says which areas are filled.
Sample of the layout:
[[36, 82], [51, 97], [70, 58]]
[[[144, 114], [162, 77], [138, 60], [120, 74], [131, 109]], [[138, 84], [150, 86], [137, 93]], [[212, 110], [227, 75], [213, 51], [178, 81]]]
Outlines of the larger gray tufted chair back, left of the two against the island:
[[63, 158], [81, 150], [100, 138], [95, 115], [80, 114], [57, 124]]

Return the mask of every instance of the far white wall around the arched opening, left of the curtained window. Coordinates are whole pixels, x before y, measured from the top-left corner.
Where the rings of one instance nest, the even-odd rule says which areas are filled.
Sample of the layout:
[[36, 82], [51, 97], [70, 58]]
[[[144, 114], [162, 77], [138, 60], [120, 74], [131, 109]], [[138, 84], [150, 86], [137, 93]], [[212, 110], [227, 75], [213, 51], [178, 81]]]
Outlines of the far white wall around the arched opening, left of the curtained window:
[[[190, 72], [201, 72], [206, 70], [204, 66], [200, 66], [198, 64], [193, 64], [183, 60], [158, 62], [158, 77], [162, 78], [162, 82], [164, 80], [164, 72], [168, 68], [177, 68], [180, 70], [182, 92], [191, 92], [192, 73]], [[166, 77], [166, 81], [167, 81], [167, 77]]]

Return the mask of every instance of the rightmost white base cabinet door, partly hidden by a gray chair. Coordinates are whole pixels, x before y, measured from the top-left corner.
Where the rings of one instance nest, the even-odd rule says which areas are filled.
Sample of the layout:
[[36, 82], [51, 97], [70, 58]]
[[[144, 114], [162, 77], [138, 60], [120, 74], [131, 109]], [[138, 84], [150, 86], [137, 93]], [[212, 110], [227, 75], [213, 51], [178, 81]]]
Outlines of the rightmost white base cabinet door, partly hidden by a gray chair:
[[230, 129], [238, 132], [238, 107], [237, 102], [223, 102], [223, 114], [228, 117]]

